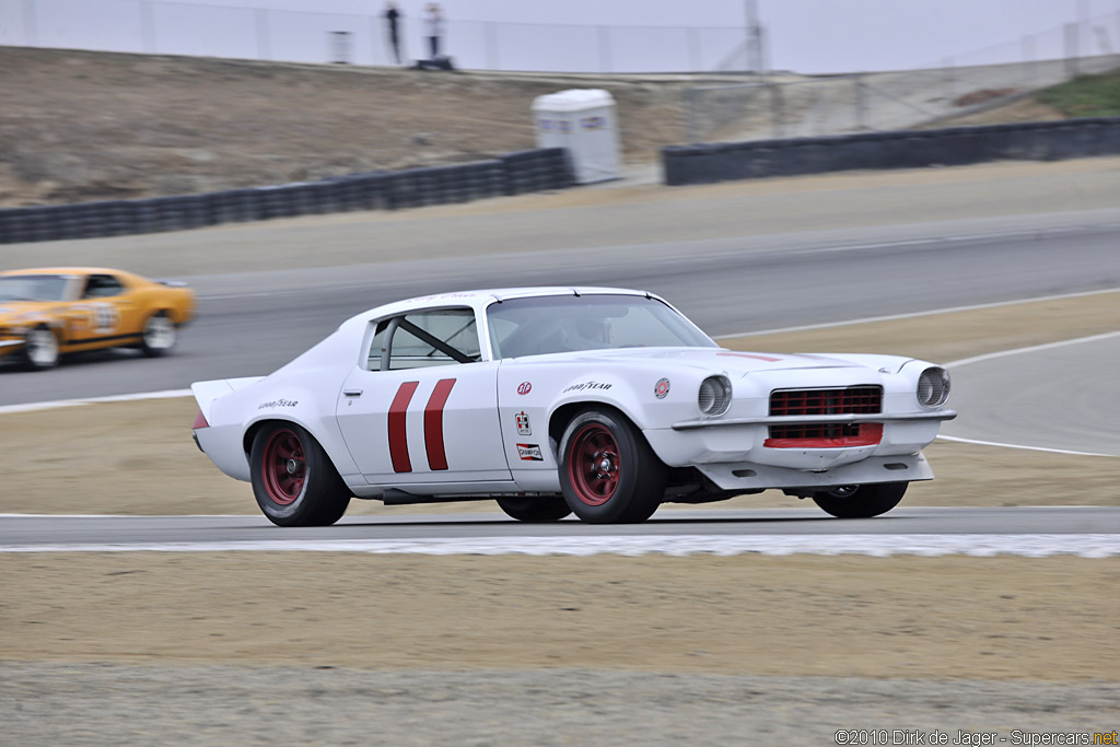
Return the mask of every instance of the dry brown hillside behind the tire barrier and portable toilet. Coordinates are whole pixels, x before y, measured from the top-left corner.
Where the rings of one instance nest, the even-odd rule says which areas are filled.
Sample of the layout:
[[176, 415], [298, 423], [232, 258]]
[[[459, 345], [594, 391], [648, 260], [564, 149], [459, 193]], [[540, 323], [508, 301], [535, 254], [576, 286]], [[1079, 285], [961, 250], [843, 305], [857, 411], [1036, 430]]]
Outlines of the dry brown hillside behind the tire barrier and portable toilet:
[[[625, 160], [653, 162], [661, 147], [687, 140], [685, 90], [728, 82], [0, 47], [0, 207], [477, 160], [532, 148], [533, 99], [569, 87], [609, 90]], [[935, 127], [1076, 111], [1028, 99]], [[737, 139], [735, 129], [717, 137]]]

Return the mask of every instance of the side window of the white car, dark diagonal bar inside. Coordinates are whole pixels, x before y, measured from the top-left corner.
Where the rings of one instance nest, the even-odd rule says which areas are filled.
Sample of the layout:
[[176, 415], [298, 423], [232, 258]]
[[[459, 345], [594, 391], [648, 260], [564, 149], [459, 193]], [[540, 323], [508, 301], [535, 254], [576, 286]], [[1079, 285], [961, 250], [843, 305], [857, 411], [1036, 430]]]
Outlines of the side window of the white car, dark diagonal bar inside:
[[470, 309], [418, 311], [377, 323], [370, 345], [370, 371], [381, 371], [386, 348], [392, 371], [473, 363], [482, 358], [475, 314]]

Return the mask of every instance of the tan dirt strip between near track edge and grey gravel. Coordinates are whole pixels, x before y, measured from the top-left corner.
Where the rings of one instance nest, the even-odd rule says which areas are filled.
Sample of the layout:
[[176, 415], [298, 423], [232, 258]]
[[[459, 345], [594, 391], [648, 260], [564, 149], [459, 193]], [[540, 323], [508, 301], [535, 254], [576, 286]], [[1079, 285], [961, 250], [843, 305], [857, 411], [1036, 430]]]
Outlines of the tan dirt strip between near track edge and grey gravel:
[[1114, 681], [1120, 560], [0, 557], [0, 661]]

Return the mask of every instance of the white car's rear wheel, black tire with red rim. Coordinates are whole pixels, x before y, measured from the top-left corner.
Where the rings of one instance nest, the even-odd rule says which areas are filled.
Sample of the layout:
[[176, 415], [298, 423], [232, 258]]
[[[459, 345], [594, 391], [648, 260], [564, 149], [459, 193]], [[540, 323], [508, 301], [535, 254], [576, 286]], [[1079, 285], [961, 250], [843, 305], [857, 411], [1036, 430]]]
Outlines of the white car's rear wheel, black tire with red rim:
[[342, 519], [351, 492], [310, 433], [296, 423], [267, 423], [249, 455], [256, 505], [278, 526], [328, 526]]

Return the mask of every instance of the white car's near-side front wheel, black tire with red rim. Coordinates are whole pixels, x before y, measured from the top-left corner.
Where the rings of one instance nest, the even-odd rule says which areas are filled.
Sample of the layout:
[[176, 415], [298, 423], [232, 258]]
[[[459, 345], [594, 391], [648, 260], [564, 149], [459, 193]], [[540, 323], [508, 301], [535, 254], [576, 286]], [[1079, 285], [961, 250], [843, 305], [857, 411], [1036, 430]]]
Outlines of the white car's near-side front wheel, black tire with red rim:
[[612, 410], [576, 415], [564, 430], [560, 455], [564, 501], [585, 522], [643, 522], [665, 496], [665, 465], [629, 421]]

